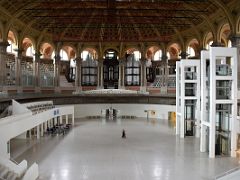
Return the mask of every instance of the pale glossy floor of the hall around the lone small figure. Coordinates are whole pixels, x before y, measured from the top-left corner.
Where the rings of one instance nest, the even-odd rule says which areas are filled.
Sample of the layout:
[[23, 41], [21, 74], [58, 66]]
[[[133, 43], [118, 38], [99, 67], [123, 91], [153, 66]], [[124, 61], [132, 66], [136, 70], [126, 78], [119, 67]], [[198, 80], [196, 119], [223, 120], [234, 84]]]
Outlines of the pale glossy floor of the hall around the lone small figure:
[[179, 139], [167, 121], [143, 119], [77, 121], [65, 136], [14, 139], [11, 154], [36, 161], [39, 180], [207, 180], [239, 165], [235, 158], [209, 159], [199, 139]]

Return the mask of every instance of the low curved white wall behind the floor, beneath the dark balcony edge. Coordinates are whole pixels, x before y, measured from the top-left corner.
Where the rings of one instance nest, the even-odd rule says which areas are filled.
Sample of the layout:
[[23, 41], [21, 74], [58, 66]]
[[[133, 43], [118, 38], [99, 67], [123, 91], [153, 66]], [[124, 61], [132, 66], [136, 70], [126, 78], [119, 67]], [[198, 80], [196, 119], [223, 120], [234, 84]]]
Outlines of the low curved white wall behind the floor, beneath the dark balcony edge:
[[101, 109], [109, 107], [120, 110], [120, 115], [132, 115], [137, 117], [147, 117], [144, 110], [154, 110], [155, 115], [149, 114], [149, 118], [167, 119], [169, 111], [176, 111], [174, 105], [159, 104], [76, 104], [74, 105], [75, 118], [83, 118], [86, 116], [101, 115]]

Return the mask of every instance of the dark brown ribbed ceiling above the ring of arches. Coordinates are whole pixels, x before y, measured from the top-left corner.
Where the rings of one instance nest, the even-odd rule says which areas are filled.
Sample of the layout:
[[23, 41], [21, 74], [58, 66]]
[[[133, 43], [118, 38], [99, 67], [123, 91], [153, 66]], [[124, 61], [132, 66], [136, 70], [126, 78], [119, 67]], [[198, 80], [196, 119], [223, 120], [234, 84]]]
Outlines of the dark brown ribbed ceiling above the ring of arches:
[[[0, 7], [56, 41], [169, 41], [207, 24], [219, 0], [1, 0]], [[222, 4], [238, 2], [220, 0]]]

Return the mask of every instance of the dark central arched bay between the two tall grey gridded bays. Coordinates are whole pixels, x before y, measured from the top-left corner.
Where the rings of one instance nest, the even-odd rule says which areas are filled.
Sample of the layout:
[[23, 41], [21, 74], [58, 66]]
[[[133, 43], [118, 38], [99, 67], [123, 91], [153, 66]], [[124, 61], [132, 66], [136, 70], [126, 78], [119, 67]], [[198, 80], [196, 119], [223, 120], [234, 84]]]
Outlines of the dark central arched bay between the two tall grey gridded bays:
[[105, 59], [103, 61], [104, 70], [104, 89], [118, 89], [118, 56], [115, 50], [105, 51]]

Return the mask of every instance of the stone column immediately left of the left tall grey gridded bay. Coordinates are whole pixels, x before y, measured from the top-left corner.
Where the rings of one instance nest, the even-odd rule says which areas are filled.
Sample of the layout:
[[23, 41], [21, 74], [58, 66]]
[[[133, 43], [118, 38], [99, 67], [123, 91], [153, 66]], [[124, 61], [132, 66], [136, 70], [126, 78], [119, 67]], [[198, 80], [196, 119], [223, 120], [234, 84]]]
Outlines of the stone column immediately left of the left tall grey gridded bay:
[[82, 91], [82, 59], [77, 57], [76, 59], [76, 71], [75, 71], [75, 89], [79, 93]]

